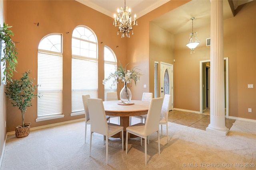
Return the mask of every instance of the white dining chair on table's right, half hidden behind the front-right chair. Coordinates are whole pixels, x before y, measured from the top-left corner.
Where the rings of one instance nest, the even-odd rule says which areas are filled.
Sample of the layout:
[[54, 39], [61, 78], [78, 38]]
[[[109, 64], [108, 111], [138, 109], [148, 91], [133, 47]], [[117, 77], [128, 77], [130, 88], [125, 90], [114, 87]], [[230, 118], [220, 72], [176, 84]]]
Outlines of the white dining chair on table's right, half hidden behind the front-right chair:
[[163, 125], [166, 125], [167, 143], [169, 143], [169, 138], [168, 138], [168, 114], [169, 114], [170, 105], [171, 105], [171, 95], [165, 94], [163, 105], [162, 105], [162, 110], [161, 110], [161, 115], [160, 115], [159, 125], [161, 125], [161, 135], [163, 135]]

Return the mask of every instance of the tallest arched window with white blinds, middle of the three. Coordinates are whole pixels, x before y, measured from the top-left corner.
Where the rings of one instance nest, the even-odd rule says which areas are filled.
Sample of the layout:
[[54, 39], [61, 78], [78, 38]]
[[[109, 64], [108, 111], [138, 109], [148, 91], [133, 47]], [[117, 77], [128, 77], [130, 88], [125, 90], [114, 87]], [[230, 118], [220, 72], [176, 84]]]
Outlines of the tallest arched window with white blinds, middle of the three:
[[72, 33], [72, 114], [84, 112], [83, 94], [98, 98], [98, 54], [94, 32], [83, 25]]

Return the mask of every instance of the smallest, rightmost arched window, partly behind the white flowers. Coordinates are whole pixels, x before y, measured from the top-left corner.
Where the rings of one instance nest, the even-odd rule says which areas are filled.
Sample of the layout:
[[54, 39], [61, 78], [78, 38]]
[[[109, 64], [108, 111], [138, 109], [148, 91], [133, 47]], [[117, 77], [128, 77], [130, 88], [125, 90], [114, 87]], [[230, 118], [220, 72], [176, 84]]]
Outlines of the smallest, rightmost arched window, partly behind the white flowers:
[[[116, 55], [110, 49], [109, 47], [104, 47], [104, 78], [107, 78], [110, 73], [114, 73], [117, 68], [117, 62], [116, 62]], [[105, 100], [106, 100], [106, 93], [107, 92], [116, 92], [117, 85], [112, 86], [110, 88], [111, 84], [113, 83], [114, 78], [108, 80], [104, 86], [104, 92], [105, 92]]]

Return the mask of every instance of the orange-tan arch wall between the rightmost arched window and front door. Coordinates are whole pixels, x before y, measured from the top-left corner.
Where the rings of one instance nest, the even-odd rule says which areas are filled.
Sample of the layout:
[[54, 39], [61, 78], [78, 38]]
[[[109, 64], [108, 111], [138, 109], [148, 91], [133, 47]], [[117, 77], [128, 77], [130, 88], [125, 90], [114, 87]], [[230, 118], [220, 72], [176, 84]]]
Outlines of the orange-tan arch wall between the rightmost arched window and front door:
[[[131, 88], [132, 99], [140, 100], [143, 92], [154, 93], [154, 81], [152, 81], [152, 78], [154, 78], [153, 70], [155, 56], [152, 57], [150, 54], [150, 21], [189, 1], [190, 0], [172, 0], [142, 16], [141, 18], [138, 18], [138, 26], [133, 27], [134, 35], [127, 40], [128, 63], [131, 63], [132, 66], [140, 67], [143, 74], [137, 87], [135, 88], [133, 86]], [[166, 63], [168, 63], [168, 60], [166, 60]], [[143, 88], [144, 84], [147, 85], [147, 88]]]

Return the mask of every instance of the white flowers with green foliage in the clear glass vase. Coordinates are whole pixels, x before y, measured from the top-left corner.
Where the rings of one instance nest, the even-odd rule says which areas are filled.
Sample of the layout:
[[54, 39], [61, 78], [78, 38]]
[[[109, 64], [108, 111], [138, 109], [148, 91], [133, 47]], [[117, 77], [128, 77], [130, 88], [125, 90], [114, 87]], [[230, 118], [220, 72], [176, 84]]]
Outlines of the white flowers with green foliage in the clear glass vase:
[[[127, 65], [128, 64], [126, 64], [126, 66]], [[134, 67], [132, 68], [132, 70], [126, 71], [126, 66], [125, 68], [123, 68], [122, 64], [119, 63], [119, 66], [117, 66], [116, 71], [114, 73], [110, 73], [108, 78], [103, 80], [102, 84], [105, 85], [106, 81], [110, 80], [111, 78], [114, 78], [110, 88], [112, 88], [112, 86], [116, 86], [119, 82], [124, 82], [126, 84], [126, 83], [131, 83], [132, 80], [134, 80], [134, 84], [136, 86], [137, 82], [140, 81], [140, 76], [142, 75], [139, 72], [140, 69]]]

